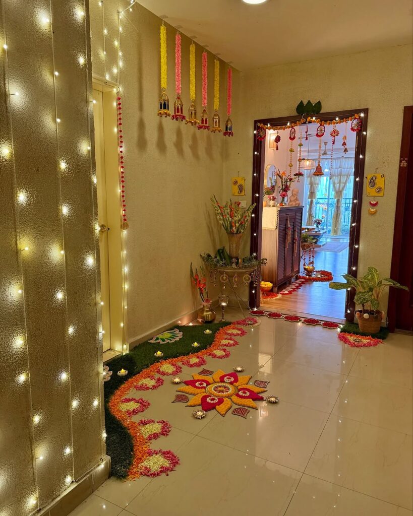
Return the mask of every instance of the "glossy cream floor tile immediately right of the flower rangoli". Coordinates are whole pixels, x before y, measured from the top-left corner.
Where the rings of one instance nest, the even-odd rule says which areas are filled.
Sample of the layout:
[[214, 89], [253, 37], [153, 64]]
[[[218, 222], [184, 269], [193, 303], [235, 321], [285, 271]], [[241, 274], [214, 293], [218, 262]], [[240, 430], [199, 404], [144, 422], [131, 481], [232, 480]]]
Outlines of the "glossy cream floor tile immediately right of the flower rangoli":
[[266, 380], [272, 394], [296, 405], [330, 412], [346, 377], [338, 373], [305, 367], [283, 360], [277, 355], [268, 361], [252, 380]]

